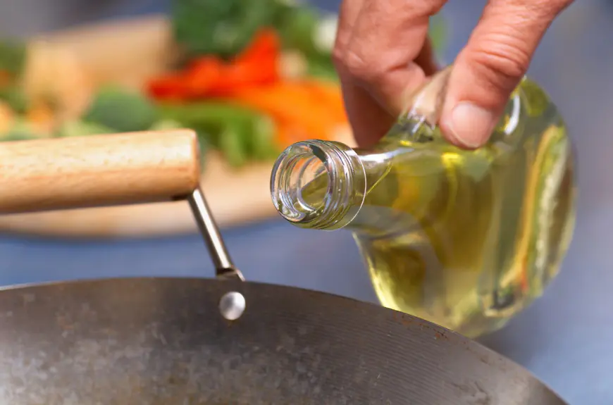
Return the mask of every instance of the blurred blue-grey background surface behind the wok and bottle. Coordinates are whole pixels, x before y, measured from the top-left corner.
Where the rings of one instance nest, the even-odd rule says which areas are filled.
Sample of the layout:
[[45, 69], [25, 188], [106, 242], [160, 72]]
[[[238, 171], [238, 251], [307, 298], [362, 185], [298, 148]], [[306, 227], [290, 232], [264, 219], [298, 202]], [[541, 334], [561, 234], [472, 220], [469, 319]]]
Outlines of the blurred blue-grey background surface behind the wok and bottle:
[[[338, 6], [338, 0], [315, 3]], [[444, 8], [451, 33], [447, 60], [466, 42], [484, 4], [452, 0]], [[32, 35], [167, 6], [162, 0], [8, 0], [0, 4], [0, 35]], [[562, 273], [544, 297], [481, 339], [570, 404], [613, 404], [612, 23], [613, 2], [577, 1], [552, 25], [533, 60], [529, 74], [557, 101], [577, 147], [576, 232]], [[347, 232], [299, 230], [270, 220], [223, 235], [249, 280], [376, 301]], [[0, 285], [125, 275], [208, 277], [213, 268], [197, 235], [80, 242], [0, 237]]]

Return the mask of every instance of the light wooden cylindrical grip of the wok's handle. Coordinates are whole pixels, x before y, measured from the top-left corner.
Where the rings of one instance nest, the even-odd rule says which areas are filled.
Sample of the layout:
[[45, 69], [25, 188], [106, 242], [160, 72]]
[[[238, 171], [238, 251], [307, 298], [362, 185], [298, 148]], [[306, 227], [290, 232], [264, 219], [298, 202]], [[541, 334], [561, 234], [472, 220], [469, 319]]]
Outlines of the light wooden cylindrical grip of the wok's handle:
[[0, 213], [186, 197], [199, 156], [192, 130], [0, 143]]

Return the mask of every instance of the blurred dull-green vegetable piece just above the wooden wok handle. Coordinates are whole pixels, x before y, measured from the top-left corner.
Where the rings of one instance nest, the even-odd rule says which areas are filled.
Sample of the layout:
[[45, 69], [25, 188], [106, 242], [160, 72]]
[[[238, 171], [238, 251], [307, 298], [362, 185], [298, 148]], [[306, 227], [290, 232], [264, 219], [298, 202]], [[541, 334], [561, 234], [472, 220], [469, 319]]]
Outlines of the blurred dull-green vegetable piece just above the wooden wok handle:
[[116, 132], [148, 130], [157, 118], [156, 106], [146, 96], [120, 87], [100, 89], [83, 116]]

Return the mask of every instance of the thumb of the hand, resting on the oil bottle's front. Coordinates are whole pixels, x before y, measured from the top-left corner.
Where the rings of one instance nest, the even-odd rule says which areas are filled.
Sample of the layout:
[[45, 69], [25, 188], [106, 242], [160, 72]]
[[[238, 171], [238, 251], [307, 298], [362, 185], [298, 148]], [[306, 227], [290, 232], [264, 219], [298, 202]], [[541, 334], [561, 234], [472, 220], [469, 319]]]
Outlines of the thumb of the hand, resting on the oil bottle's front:
[[440, 127], [458, 147], [488, 141], [552, 20], [569, 0], [490, 0], [447, 85]]

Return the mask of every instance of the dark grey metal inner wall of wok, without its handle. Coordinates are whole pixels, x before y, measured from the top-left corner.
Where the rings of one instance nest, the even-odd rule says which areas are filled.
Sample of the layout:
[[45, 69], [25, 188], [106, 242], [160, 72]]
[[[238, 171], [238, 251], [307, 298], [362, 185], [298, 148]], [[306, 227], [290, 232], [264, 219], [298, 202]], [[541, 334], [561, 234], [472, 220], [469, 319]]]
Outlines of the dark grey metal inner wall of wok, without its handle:
[[[218, 300], [241, 291], [225, 320]], [[330, 294], [194, 279], [0, 291], [0, 403], [564, 404], [424, 320]]]

